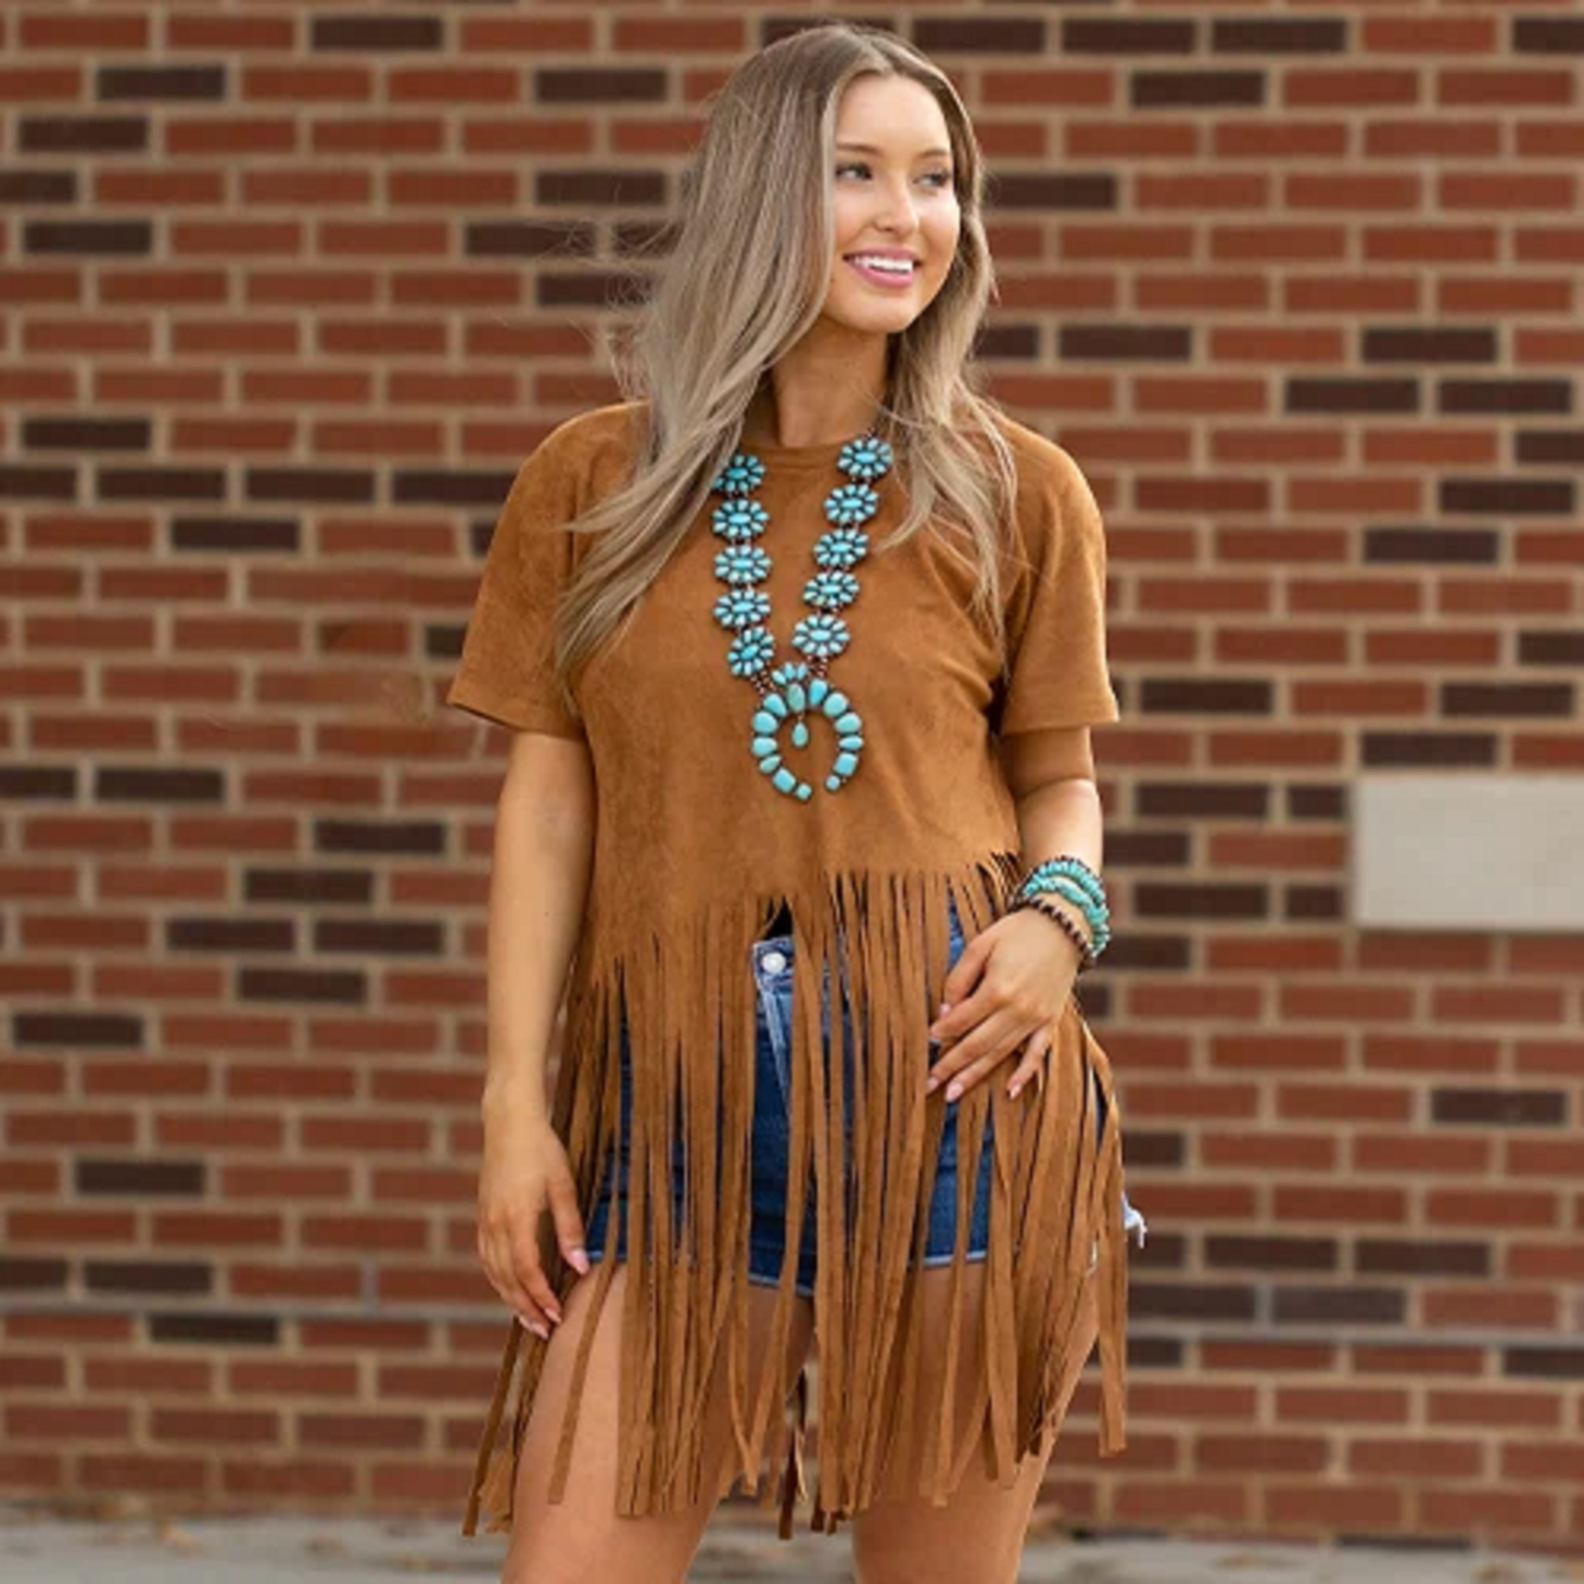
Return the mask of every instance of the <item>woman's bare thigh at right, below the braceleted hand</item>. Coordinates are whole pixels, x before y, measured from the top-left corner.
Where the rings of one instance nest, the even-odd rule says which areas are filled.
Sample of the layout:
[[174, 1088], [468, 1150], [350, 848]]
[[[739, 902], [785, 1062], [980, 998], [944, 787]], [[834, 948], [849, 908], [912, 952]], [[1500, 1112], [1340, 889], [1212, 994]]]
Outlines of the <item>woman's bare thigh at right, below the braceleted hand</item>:
[[[963, 1299], [971, 1315], [979, 1308], [984, 1269], [982, 1264], [969, 1264], [963, 1270]], [[925, 1354], [933, 1348], [939, 1356], [946, 1351], [950, 1272], [923, 1270], [919, 1283], [925, 1326], [922, 1346]], [[1066, 1416], [1079, 1375], [1099, 1334], [1098, 1302], [1095, 1275], [1090, 1272], [1061, 1380], [1058, 1422]], [[958, 1426], [966, 1422], [974, 1388], [984, 1370], [977, 1329], [963, 1327], [961, 1338], [955, 1415]], [[931, 1506], [928, 1498], [919, 1495], [876, 1502], [857, 1513], [851, 1525], [859, 1584], [960, 1584], [961, 1579], [974, 1579], [976, 1584], [1015, 1584], [1023, 1536], [1053, 1449], [1055, 1438], [1047, 1437], [1044, 1449], [1030, 1453], [1015, 1483], [1004, 1489], [985, 1476], [982, 1460], [974, 1456], [946, 1506]]]

